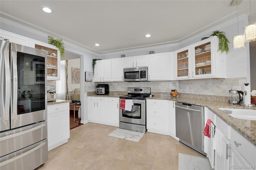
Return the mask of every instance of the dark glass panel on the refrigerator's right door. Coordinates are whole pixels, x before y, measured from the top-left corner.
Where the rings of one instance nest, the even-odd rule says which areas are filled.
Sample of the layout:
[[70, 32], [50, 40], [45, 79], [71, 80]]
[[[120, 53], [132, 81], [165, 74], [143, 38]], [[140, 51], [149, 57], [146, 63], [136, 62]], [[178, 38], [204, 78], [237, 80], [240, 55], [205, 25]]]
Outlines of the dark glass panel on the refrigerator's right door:
[[45, 109], [45, 58], [17, 52], [18, 115]]

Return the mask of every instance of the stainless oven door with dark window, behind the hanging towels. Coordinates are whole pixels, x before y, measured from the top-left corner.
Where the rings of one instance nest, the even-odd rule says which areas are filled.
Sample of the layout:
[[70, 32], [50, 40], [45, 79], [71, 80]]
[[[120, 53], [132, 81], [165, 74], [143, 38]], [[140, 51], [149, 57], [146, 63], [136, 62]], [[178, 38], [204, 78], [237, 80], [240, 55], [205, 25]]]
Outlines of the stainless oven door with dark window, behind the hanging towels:
[[[119, 104], [121, 99], [119, 99]], [[134, 105], [131, 111], [119, 110], [119, 121], [146, 125], [146, 100], [133, 100]]]

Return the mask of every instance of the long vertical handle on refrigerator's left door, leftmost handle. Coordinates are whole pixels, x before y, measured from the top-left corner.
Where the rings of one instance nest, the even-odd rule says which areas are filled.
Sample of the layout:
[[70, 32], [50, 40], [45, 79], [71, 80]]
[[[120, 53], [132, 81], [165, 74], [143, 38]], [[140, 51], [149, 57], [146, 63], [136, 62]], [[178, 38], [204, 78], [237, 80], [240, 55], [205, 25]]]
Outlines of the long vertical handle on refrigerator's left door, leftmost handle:
[[2, 93], [2, 104], [4, 109], [4, 120], [9, 120], [9, 109], [10, 109], [10, 61], [9, 51], [4, 51], [4, 69], [5, 69], [5, 92]]

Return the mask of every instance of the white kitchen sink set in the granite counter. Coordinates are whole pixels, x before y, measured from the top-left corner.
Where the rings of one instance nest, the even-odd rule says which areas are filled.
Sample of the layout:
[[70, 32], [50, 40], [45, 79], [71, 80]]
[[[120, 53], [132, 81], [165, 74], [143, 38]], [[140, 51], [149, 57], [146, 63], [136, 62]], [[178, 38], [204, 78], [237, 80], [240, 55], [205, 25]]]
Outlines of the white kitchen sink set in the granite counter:
[[237, 119], [256, 121], [256, 110], [230, 109], [230, 108], [219, 108], [219, 109]]

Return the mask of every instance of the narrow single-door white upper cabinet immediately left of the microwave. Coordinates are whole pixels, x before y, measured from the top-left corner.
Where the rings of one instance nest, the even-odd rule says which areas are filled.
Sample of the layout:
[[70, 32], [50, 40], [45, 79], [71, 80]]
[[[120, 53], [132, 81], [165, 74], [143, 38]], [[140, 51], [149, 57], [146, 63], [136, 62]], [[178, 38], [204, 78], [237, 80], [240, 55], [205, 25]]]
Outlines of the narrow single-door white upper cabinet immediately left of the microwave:
[[124, 81], [124, 59], [112, 59], [112, 81]]

